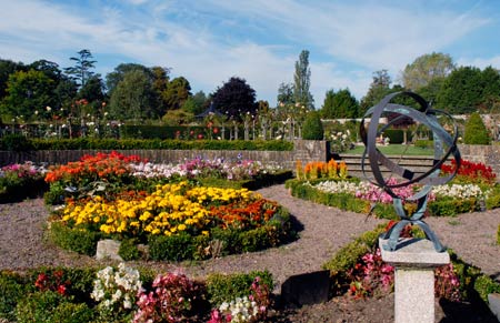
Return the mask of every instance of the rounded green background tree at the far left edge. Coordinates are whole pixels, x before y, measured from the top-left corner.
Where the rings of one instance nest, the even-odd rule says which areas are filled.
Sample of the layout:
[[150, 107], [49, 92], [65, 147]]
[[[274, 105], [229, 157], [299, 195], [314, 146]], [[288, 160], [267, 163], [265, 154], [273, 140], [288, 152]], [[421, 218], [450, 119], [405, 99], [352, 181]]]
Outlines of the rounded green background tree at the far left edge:
[[23, 117], [28, 120], [34, 118], [36, 111], [50, 112], [46, 107], [54, 105], [53, 80], [41, 71], [17, 71], [9, 77], [7, 95], [2, 102], [2, 115]]

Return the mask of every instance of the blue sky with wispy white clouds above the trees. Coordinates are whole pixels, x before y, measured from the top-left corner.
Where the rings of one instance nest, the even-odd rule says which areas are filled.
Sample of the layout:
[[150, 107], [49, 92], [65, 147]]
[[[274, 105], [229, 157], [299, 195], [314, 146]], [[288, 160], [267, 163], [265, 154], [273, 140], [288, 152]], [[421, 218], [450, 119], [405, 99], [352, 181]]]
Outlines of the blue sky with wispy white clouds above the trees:
[[89, 49], [102, 75], [119, 63], [162, 65], [193, 93], [236, 75], [271, 105], [304, 49], [317, 109], [329, 89], [361, 99], [374, 71], [398, 82], [406, 64], [433, 51], [500, 69], [498, 0], [0, 0], [0, 8], [1, 59], [62, 69]]

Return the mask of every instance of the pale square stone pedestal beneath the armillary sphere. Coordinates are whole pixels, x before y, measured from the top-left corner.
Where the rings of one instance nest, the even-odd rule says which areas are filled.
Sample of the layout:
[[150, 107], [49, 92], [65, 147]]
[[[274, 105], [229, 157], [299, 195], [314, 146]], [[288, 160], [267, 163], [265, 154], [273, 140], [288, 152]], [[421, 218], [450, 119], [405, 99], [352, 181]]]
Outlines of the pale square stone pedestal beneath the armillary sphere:
[[394, 266], [394, 322], [434, 322], [434, 268], [450, 263], [448, 252], [437, 252], [431, 241], [406, 239], [396, 251], [379, 239], [382, 260]]

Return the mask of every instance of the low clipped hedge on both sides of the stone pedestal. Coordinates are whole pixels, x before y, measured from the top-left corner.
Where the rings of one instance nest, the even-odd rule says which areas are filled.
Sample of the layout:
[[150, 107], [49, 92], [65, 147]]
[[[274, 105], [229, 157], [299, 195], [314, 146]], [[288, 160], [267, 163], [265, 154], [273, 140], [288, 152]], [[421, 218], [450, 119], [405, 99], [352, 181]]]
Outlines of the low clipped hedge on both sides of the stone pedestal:
[[[330, 271], [331, 292], [333, 295], [347, 292], [349, 283], [347, 282], [346, 273], [360, 261], [361, 256], [374, 248], [378, 243], [378, 238], [383, 232], [383, 224], [372, 231], [364, 232], [323, 264], [322, 268]], [[423, 236], [418, 228], [413, 228], [412, 233], [413, 236]], [[454, 272], [460, 280], [460, 292], [463, 300], [488, 304], [488, 294], [500, 293], [500, 284], [498, 282], [482, 273], [479, 268], [464, 262], [452, 250], [448, 250], [448, 252], [450, 253]]]

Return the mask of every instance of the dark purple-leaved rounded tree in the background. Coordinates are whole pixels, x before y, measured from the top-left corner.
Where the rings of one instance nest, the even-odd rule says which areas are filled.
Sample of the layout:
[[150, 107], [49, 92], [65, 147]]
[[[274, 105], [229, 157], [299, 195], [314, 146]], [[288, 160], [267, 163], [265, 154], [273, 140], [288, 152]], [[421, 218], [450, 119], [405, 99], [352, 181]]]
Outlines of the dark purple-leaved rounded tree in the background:
[[243, 114], [257, 114], [256, 90], [244, 79], [230, 78], [212, 94], [213, 108], [221, 113], [241, 121]]

